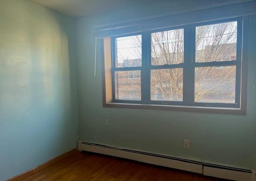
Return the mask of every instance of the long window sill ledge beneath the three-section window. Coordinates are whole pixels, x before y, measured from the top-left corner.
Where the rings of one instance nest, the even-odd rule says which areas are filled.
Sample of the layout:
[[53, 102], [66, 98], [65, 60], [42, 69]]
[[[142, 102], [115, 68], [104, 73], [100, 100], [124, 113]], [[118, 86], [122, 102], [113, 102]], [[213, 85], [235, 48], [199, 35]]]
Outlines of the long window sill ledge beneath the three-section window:
[[195, 106], [152, 105], [152, 104], [131, 104], [131, 103], [106, 103], [106, 104], [103, 104], [103, 107], [156, 109], [156, 110], [168, 110], [168, 111], [187, 111], [187, 112], [198, 112], [198, 113], [246, 115], [246, 110], [243, 110], [240, 108], [224, 108], [224, 107], [195, 107]]

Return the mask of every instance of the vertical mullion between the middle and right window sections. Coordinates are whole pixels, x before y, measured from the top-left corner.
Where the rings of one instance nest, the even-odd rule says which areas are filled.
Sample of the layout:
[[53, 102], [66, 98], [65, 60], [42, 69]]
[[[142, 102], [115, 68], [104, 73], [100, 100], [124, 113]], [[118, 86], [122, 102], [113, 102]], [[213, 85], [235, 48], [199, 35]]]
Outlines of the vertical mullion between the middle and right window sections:
[[195, 36], [195, 26], [184, 27], [183, 101], [186, 105], [194, 102]]

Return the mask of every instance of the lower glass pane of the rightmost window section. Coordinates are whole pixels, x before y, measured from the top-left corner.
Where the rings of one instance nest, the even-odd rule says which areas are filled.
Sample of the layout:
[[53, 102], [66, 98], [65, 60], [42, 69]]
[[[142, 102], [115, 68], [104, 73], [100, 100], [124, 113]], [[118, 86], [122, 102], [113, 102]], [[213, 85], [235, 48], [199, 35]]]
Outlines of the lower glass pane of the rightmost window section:
[[236, 66], [195, 68], [195, 101], [235, 103]]

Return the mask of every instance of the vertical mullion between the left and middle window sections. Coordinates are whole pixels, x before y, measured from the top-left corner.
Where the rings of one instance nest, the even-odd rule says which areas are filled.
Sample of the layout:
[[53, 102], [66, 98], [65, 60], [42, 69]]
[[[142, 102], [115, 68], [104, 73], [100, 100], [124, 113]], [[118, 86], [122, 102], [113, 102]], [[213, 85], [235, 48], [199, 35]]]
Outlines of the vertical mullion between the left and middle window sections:
[[141, 93], [142, 103], [150, 101], [150, 69], [149, 69], [149, 50], [150, 33], [142, 33], [142, 69], [141, 69]]

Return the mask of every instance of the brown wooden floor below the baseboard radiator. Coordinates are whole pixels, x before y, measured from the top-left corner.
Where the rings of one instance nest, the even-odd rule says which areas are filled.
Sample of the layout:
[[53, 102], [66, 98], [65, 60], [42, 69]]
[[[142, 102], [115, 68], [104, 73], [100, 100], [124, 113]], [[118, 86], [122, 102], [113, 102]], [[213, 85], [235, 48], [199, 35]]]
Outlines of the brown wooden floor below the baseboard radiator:
[[31, 180], [213, 181], [220, 179], [96, 153], [76, 152], [23, 181]]

